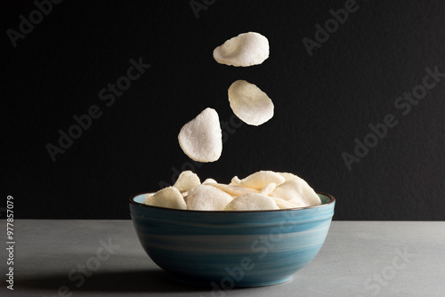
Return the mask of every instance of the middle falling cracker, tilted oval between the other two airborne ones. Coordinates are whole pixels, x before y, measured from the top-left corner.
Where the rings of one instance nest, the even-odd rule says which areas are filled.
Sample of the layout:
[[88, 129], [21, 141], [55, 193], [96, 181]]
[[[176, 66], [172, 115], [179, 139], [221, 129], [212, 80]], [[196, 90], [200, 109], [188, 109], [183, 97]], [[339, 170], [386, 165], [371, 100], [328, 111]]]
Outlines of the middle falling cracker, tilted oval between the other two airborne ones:
[[255, 84], [245, 80], [237, 80], [231, 84], [229, 102], [233, 113], [246, 124], [264, 124], [273, 116], [271, 98]]

